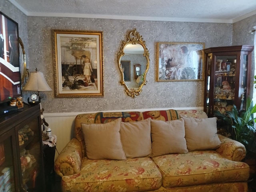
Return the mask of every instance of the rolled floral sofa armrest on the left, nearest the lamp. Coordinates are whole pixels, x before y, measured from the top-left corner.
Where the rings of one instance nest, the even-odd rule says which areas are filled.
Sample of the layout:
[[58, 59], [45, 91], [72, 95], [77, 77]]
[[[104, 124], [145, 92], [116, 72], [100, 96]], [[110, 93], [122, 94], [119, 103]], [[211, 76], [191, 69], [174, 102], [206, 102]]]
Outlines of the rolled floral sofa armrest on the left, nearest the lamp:
[[54, 162], [54, 170], [60, 177], [73, 175], [80, 171], [82, 162], [82, 146], [73, 138], [68, 142]]

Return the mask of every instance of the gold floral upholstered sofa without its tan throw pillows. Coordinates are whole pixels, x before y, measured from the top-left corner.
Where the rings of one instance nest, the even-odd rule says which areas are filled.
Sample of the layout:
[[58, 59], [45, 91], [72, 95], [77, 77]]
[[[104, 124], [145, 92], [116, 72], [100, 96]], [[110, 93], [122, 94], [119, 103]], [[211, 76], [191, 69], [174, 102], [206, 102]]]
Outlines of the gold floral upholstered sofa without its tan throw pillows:
[[[124, 121], [127, 117], [130, 118], [126, 121], [138, 121], [144, 119], [145, 113], [121, 112], [121, 115]], [[166, 114], [172, 117], [168, 120], [182, 116], [207, 118], [202, 110], [173, 110]], [[241, 143], [220, 135], [221, 145], [216, 150], [128, 160], [86, 158], [81, 123], [93, 124], [96, 120], [104, 123], [108, 120], [103, 115], [76, 116], [75, 137], [62, 150], [54, 165], [56, 174], [62, 177], [62, 192], [247, 192], [249, 167], [240, 162], [246, 150]], [[147, 115], [152, 114], [147, 112]]]

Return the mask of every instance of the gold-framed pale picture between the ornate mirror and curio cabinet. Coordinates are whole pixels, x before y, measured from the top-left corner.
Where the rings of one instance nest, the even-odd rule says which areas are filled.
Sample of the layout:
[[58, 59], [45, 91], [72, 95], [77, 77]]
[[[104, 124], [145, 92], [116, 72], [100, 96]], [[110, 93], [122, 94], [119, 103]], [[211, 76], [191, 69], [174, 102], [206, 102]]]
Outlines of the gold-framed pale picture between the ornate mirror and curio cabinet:
[[156, 81], [203, 81], [203, 49], [202, 42], [157, 42]]

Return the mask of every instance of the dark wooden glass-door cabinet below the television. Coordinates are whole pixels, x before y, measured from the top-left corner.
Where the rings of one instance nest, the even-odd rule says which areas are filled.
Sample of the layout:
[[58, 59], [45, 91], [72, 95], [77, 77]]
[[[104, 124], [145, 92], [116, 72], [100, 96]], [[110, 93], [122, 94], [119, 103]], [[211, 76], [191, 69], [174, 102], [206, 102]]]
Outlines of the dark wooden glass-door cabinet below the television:
[[0, 191], [45, 191], [39, 105], [0, 117]]

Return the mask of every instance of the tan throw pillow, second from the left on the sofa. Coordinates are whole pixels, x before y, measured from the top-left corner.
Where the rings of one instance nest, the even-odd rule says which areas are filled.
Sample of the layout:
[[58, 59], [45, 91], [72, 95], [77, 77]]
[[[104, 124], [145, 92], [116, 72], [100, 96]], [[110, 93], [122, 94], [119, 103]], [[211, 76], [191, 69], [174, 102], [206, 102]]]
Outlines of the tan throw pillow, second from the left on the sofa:
[[151, 154], [150, 118], [136, 122], [121, 122], [120, 135], [127, 158]]

